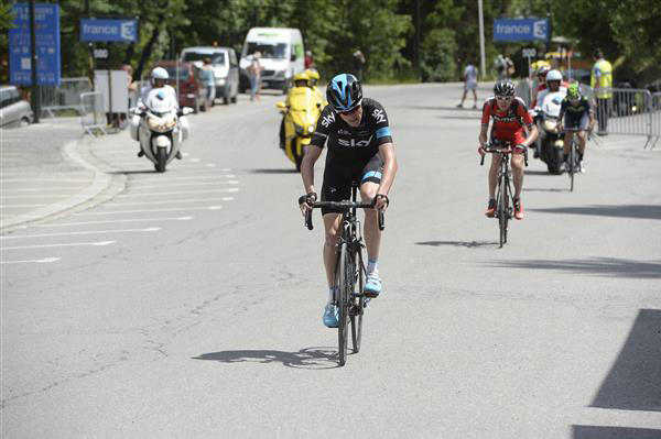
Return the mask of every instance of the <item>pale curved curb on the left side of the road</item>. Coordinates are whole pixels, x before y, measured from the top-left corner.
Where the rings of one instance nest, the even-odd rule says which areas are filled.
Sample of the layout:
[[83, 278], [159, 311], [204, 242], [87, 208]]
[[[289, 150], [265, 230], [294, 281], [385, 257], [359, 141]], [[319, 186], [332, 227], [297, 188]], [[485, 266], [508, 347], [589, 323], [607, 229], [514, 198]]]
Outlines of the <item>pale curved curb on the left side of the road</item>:
[[108, 171], [113, 171], [110, 166], [99, 162], [89, 151], [94, 140], [83, 138], [72, 141], [63, 146], [63, 155], [78, 166], [94, 173], [91, 184], [72, 197], [15, 218], [8, 219], [0, 223], [0, 232], [9, 232], [14, 229], [24, 228], [24, 226], [39, 222], [45, 219], [53, 219], [73, 209], [85, 210], [115, 197], [126, 187], [126, 175], [112, 175]]

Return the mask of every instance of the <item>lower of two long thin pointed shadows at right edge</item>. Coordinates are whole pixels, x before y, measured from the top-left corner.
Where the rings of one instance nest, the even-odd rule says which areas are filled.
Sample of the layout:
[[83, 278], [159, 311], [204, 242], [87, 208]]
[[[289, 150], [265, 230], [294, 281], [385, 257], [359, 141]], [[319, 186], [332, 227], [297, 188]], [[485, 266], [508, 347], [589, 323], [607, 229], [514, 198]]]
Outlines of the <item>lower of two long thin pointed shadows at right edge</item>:
[[589, 260], [566, 261], [494, 261], [491, 266], [520, 270], [552, 270], [581, 273], [584, 275], [631, 277], [631, 278], [661, 278], [661, 261], [641, 262], [618, 257], [593, 257]]

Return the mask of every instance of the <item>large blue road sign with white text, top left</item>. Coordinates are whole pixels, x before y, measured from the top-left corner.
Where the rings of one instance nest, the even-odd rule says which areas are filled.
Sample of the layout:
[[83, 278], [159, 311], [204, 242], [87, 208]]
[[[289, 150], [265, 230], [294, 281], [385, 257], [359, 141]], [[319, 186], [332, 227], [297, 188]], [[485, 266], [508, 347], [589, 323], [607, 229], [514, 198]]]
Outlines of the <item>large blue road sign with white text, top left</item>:
[[[9, 30], [9, 81], [32, 85], [32, 44], [30, 43], [30, 9], [25, 3], [12, 6], [13, 29]], [[61, 80], [59, 57], [59, 6], [36, 3], [34, 6], [36, 41], [36, 84], [58, 86]]]

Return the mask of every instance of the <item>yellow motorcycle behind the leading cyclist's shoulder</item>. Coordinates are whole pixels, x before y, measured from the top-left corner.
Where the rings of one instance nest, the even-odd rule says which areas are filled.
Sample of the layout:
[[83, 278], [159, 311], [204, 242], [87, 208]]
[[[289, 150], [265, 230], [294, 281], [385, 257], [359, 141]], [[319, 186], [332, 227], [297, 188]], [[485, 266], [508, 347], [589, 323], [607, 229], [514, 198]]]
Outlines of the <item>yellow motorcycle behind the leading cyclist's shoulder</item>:
[[316, 91], [310, 87], [293, 87], [286, 102], [275, 103], [280, 113], [284, 114], [284, 142], [281, 147], [299, 172], [305, 146], [312, 140], [316, 121], [322, 112], [321, 106]]

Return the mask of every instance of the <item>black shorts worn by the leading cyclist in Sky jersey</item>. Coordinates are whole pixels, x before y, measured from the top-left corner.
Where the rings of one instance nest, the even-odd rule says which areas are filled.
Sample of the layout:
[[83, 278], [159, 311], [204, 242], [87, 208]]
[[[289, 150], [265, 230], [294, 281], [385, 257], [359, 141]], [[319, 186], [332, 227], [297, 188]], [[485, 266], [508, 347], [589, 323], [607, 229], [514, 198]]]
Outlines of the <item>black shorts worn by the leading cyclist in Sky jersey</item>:
[[[367, 162], [357, 163], [330, 161], [324, 169], [324, 184], [322, 185], [322, 201], [343, 201], [351, 199], [351, 183], [381, 183], [383, 161], [381, 155], [375, 154]], [[342, 212], [342, 210], [322, 208], [322, 215]]]

